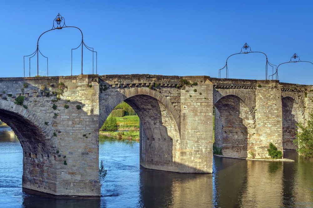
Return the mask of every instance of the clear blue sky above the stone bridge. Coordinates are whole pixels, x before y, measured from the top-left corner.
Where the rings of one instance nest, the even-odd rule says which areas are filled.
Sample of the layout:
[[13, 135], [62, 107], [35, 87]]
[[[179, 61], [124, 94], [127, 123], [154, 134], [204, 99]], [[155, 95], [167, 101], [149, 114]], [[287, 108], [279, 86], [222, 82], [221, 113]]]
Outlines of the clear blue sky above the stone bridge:
[[[267, 55], [270, 63], [288, 62], [296, 53], [313, 62], [311, 1], [4, 1], [1, 5], [0, 77], [23, 77], [23, 56], [32, 54], [40, 34], [60, 13], [67, 26], [80, 28], [87, 46], [98, 52], [98, 74], [208, 75], [218, 77], [229, 55], [244, 43]], [[39, 40], [49, 58], [49, 76], [71, 75], [71, 48], [79, 30], [50, 31]], [[73, 75], [81, 73], [80, 50], [73, 53]], [[91, 54], [84, 49], [84, 74], [92, 74]], [[43, 62], [43, 63], [41, 63]], [[265, 79], [263, 54], [235, 55], [229, 78]], [[25, 59], [25, 76], [29, 61]], [[279, 80], [313, 84], [313, 65], [279, 67]], [[268, 75], [272, 74], [269, 68]], [[94, 73], [96, 73], [94, 71]], [[39, 74], [47, 75], [39, 59]], [[37, 75], [37, 59], [31, 76]], [[225, 70], [222, 71], [222, 78]]]

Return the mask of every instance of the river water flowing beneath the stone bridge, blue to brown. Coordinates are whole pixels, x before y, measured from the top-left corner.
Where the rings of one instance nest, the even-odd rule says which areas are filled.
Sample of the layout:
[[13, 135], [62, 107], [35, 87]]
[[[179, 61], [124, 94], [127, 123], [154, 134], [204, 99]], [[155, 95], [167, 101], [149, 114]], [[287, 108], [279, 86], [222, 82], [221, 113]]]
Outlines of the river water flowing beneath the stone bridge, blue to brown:
[[0, 127], [0, 207], [313, 207], [313, 161], [285, 151], [295, 162], [214, 157], [213, 174], [180, 174], [139, 166], [139, 143], [100, 136], [108, 174], [102, 197], [54, 197], [22, 189], [22, 147]]

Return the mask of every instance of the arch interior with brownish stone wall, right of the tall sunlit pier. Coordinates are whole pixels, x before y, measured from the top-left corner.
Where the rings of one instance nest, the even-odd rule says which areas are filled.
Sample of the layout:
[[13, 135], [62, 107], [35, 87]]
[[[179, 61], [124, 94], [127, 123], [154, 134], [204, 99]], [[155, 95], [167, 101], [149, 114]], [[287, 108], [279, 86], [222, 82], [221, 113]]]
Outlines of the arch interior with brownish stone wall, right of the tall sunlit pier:
[[247, 105], [238, 96], [227, 95], [215, 104], [215, 142], [225, 156], [247, 158], [249, 130], [253, 117]]

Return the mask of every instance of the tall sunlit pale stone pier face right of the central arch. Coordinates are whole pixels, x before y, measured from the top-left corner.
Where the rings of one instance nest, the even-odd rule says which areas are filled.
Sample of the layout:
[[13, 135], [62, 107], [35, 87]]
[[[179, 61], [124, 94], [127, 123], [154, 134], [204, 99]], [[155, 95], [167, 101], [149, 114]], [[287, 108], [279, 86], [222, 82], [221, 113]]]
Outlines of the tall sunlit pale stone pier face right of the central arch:
[[[184, 172], [212, 173], [213, 84], [208, 79], [185, 77], [197, 86], [181, 89], [181, 141], [179, 161]], [[202, 82], [201, 82], [202, 81]]]

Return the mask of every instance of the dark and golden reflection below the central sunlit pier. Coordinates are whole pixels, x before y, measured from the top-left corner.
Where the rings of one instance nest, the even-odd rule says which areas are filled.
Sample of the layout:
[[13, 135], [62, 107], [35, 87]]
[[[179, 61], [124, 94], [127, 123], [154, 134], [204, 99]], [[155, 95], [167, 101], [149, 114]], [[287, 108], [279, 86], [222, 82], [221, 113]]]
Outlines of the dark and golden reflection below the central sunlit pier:
[[212, 174], [142, 169], [141, 207], [212, 207]]

